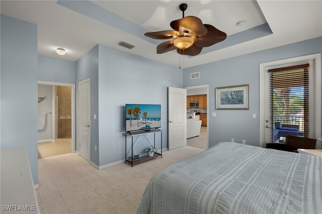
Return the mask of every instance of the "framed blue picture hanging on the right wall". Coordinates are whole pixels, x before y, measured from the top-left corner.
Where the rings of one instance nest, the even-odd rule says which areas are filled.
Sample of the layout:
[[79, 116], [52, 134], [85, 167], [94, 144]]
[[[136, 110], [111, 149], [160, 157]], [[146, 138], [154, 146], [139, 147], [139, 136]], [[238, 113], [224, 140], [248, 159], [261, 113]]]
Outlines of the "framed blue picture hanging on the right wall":
[[249, 84], [217, 87], [216, 110], [249, 110]]

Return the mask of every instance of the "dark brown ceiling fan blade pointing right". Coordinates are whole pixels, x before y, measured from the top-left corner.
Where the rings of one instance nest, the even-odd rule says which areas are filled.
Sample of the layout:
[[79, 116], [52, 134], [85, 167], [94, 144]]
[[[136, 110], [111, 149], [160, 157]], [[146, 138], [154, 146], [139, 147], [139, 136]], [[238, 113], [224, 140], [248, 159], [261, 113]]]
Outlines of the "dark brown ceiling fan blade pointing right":
[[212, 25], [205, 24], [207, 33], [199, 35], [199, 39], [194, 43], [198, 47], [209, 47], [227, 38], [227, 35], [213, 27]]

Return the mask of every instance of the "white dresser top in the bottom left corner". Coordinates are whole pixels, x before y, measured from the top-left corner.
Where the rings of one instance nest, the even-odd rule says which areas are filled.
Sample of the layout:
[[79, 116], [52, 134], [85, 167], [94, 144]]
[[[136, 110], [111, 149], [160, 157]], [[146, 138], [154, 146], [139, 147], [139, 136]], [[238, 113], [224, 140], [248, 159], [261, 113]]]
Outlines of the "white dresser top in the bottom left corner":
[[26, 148], [1, 149], [1, 213], [40, 213]]

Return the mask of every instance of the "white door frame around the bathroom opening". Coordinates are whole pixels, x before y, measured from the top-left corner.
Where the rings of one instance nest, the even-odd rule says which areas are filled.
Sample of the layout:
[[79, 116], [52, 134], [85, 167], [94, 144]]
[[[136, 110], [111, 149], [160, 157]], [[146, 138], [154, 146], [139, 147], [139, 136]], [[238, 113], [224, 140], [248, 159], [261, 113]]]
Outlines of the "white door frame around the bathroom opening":
[[[71, 152], [75, 153], [75, 130], [76, 130], [76, 123], [75, 123], [75, 84], [72, 83], [63, 83], [63, 82], [50, 82], [50, 81], [42, 81], [38, 80], [38, 84], [43, 85], [57, 85], [57, 86], [68, 86], [71, 87]], [[53, 97], [54, 98], [54, 97]], [[52, 136], [55, 139], [55, 113], [52, 112]]]

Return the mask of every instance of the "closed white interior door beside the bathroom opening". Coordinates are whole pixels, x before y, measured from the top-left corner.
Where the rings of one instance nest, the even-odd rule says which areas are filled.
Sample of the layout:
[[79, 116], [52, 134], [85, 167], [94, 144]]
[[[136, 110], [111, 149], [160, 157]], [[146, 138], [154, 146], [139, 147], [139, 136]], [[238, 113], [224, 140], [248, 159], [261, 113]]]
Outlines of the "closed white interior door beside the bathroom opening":
[[91, 160], [91, 82], [79, 83], [79, 154]]

